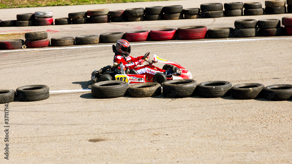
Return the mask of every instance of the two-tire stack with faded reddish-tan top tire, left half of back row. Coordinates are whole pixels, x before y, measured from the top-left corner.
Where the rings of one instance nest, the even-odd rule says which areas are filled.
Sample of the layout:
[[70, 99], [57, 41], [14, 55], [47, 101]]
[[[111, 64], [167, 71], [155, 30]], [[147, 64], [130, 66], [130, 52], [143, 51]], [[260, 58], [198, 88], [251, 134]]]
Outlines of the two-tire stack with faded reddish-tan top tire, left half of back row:
[[88, 10], [87, 15], [89, 17], [90, 23], [107, 23], [110, 21], [109, 19], [109, 9], [95, 9], [95, 10]]

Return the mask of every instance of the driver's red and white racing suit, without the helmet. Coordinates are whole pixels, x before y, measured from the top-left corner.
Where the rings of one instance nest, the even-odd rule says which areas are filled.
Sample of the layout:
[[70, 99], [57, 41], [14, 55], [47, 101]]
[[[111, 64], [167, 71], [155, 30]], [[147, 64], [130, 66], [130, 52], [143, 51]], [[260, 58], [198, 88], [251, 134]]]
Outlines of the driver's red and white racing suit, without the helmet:
[[135, 68], [136, 66], [138, 66], [140, 64], [140, 60], [143, 58], [144, 56], [140, 56], [140, 57], [131, 57], [131, 56], [127, 56], [124, 57], [121, 56], [121, 55], [116, 55], [114, 57], [114, 62], [117, 62], [117, 63], [123, 63], [125, 67], [128, 67], [130, 70], [131, 69], [135, 69], [139, 74], [142, 74], [142, 75], [147, 75], [147, 79], [150, 80], [153, 78], [153, 76], [156, 74], [156, 73], [164, 73], [165, 70], [163, 69], [160, 69], [160, 68], [157, 68], [155, 66], [152, 66], [150, 68], [149, 65], [145, 65], [145, 66], [141, 66], [141, 67], [138, 67], [138, 68]]

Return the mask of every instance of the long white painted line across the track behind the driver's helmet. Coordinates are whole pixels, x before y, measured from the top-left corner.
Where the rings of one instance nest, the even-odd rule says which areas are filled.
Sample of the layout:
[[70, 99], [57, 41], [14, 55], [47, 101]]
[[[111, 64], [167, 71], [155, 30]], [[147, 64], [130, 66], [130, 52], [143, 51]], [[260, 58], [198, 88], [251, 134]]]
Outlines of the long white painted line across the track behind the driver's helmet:
[[[203, 41], [179, 41], [179, 42], [155, 42], [155, 43], [130, 43], [131, 45], [150, 45], [150, 44], [182, 44], [182, 43], [213, 43], [213, 42], [242, 42], [242, 41], [256, 41], [256, 40], [284, 40], [291, 38], [256, 38], [256, 39], [230, 39], [230, 40], [203, 40]], [[74, 47], [58, 47], [58, 48], [42, 48], [42, 49], [21, 49], [21, 50], [6, 50], [0, 52], [16, 52], [16, 51], [36, 51], [36, 50], [62, 50], [88, 47], [107, 47], [111, 45], [88, 45], [88, 46], [74, 46]]]

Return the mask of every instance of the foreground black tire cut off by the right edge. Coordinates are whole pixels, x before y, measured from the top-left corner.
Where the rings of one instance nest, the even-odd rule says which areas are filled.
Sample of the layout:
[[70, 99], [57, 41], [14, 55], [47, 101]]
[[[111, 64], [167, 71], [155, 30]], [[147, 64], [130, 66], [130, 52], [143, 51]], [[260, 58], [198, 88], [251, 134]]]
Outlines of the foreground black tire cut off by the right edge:
[[264, 98], [268, 101], [285, 101], [292, 98], [291, 84], [270, 85], [263, 89]]

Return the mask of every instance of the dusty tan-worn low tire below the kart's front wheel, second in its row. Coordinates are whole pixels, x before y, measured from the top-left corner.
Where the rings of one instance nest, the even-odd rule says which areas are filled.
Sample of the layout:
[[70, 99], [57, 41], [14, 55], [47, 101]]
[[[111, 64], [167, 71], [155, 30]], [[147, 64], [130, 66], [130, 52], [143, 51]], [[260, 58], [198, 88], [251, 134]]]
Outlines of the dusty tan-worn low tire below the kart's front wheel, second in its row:
[[161, 94], [161, 85], [155, 82], [134, 84], [129, 87], [129, 94], [133, 97], [151, 97]]

